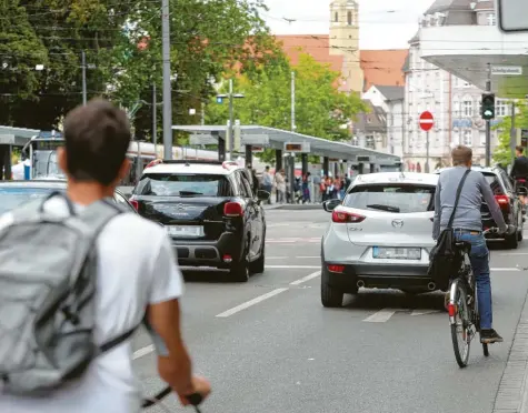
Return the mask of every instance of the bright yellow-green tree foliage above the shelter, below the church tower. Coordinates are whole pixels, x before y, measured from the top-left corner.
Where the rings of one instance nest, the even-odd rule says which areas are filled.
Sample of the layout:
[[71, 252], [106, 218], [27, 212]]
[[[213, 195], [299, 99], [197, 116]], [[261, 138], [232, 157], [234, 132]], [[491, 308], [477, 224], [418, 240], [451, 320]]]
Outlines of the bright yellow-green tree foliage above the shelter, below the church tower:
[[[235, 100], [235, 119], [242, 124], [290, 130], [292, 71], [296, 73], [296, 131], [335, 141], [350, 139], [348, 129], [341, 125], [367, 108], [357, 94], [339, 92], [336, 84], [340, 73], [309, 54], [301, 54], [296, 67], [279, 56], [272, 64], [255, 67], [237, 77], [233, 92], [243, 93], [245, 98]], [[219, 91], [228, 92], [228, 81]], [[208, 123], [226, 124], [229, 104], [227, 101], [219, 104], [212, 99], [206, 113]], [[259, 157], [270, 162], [275, 151], [267, 150]]]

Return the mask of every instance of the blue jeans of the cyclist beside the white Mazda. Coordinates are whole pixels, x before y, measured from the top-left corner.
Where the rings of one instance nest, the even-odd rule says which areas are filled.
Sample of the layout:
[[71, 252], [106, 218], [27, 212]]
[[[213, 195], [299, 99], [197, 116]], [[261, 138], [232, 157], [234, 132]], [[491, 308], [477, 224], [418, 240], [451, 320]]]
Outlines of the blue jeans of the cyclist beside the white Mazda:
[[491, 281], [489, 279], [489, 250], [482, 234], [470, 234], [455, 230], [457, 240], [471, 243], [469, 260], [477, 281], [478, 312], [480, 329], [491, 329], [494, 314], [491, 310]]

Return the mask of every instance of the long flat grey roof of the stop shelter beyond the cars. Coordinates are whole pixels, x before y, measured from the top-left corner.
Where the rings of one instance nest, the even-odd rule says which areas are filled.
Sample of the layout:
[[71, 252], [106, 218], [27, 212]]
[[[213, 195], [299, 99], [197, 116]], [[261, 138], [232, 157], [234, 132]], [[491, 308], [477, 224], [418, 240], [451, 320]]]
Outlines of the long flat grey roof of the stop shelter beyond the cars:
[[[226, 135], [227, 125], [173, 125], [173, 130], [189, 133], [206, 134], [219, 133]], [[356, 161], [356, 157], [372, 157], [376, 162], [401, 162], [399, 157], [393, 154], [375, 151], [371, 149], [355, 147], [346, 142], [329, 141], [322, 138], [310, 137], [302, 133], [290, 132], [276, 128], [261, 125], [241, 125], [241, 144], [265, 145], [270, 149], [285, 149], [285, 143], [308, 143], [310, 154], [319, 157], [329, 157], [333, 159]], [[208, 135], [209, 137], [209, 135]], [[375, 162], [375, 161], [372, 161]]]

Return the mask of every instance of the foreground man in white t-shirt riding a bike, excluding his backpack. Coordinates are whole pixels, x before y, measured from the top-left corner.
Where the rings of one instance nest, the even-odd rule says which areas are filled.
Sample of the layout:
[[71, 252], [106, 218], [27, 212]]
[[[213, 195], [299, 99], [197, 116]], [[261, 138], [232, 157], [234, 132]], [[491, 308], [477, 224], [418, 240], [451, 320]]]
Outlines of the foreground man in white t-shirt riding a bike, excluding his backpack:
[[[107, 101], [92, 100], [67, 115], [66, 144], [58, 159], [68, 178], [68, 197], [78, 210], [113, 197], [117, 183], [130, 168], [126, 158], [130, 138], [126, 113]], [[52, 199], [44, 206], [59, 216], [68, 214], [62, 199]], [[0, 225], [2, 222], [9, 224], [10, 216], [3, 215]], [[104, 226], [97, 249], [96, 341], [107, 342], [116, 332], [140, 324], [147, 310], [160, 377], [185, 405], [189, 404], [186, 396], [193, 393], [206, 397], [209, 383], [192, 375], [180, 333], [182, 276], [163, 229], [137, 214], [123, 213]], [[0, 389], [0, 412], [129, 413], [140, 409], [130, 339], [97, 356], [78, 382], [50, 396], [6, 395]]]

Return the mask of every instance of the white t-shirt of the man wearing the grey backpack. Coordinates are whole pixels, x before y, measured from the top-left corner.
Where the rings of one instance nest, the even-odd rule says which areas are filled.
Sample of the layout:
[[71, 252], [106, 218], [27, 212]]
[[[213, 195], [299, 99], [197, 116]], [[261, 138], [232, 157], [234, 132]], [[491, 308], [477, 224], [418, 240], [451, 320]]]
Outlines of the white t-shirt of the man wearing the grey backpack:
[[[60, 199], [47, 210], [67, 213]], [[0, 228], [11, 222], [8, 213]], [[99, 235], [96, 342], [103, 344], [141, 323], [146, 306], [177, 299], [183, 282], [163, 228], [126, 213], [112, 219]], [[142, 394], [132, 372], [131, 339], [98, 356], [71, 387], [46, 399], [4, 395], [6, 413], [136, 413]]]

